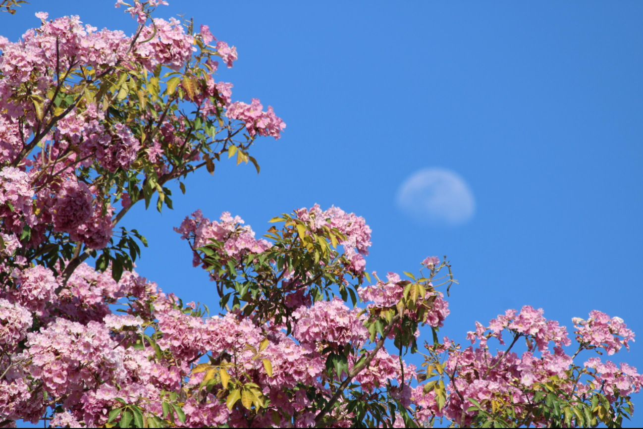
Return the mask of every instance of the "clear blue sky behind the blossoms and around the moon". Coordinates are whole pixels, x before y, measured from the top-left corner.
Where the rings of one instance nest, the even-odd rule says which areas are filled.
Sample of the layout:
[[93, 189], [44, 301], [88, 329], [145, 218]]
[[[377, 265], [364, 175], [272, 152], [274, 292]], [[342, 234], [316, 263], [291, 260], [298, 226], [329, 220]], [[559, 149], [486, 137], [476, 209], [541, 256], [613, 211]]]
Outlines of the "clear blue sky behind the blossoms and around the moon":
[[[39, 11], [133, 32], [113, 3], [32, 0], [0, 15], [0, 33], [15, 41]], [[221, 80], [234, 100], [272, 105], [287, 128], [258, 141], [259, 176], [222, 161], [214, 177], [188, 178], [185, 196], [173, 188], [174, 211], [127, 215], [150, 242], [138, 271], [165, 291], [216, 302], [172, 231], [197, 208], [262, 232], [319, 203], [367, 219], [368, 271], [448, 255], [460, 286], [441, 333], [463, 344], [476, 320], [527, 304], [569, 331], [599, 309], [643, 333], [642, 3], [170, 0], [157, 16], [179, 13], [237, 46]], [[468, 184], [471, 219], [427, 223], [396, 205], [427, 168]], [[641, 341], [613, 360], [643, 371]], [[631, 426], [641, 424], [639, 411]]]

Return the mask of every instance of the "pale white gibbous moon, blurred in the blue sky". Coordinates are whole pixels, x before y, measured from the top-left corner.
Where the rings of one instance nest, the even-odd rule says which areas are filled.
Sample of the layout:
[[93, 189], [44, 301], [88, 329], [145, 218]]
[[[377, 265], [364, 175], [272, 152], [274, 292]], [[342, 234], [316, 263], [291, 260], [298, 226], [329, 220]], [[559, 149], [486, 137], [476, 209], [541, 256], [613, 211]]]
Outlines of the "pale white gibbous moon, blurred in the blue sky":
[[397, 206], [416, 221], [458, 225], [475, 214], [473, 192], [459, 174], [447, 169], [422, 169], [397, 191]]

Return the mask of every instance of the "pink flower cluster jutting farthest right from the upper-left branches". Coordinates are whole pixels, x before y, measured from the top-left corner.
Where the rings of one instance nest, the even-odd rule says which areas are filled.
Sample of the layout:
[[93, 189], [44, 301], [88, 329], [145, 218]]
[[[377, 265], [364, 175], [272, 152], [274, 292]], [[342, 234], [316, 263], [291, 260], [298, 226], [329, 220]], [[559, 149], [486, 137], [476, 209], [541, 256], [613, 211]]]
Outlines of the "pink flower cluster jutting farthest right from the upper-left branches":
[[[219, 41], [219, 43], [222, 43]], [[231, 62], [229, 65], [231, 67]], [[228, 118], [240, 120], [246, 123], [246, 129], [251, 136], [273, 136], [275, 140], [281, 137], [281, 131], [285, 128], [284, 121], [275, 115], [275, 111], [268, 106], [266, 112], [262, 111], [264, 106], [258, 98], [253, 98], [251, 104], [244, 102], [233, 102], [226, 109]]]

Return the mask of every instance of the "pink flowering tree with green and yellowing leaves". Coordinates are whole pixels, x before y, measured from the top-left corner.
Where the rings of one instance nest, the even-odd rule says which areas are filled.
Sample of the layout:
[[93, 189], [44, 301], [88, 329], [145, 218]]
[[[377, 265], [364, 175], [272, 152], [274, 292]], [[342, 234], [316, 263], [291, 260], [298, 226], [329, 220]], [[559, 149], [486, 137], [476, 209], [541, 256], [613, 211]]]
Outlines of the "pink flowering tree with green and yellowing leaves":
[[[161, 4], [118, 1], [131, 37], [44, 13], [21, 41], [0, 37], [1, 427], [593, 427], [631, 414], [635, 368], [574, 361], [628, 347], [620, 318], [574, 318], [572, 356], [566, 328], [529, 306], [476, 323], [475, 348], [440, 342], [448, 262], [371, 277], [371, 230], [337, 207], [279, 215], [260, 239], [227, 212], [186, 217], [175, 229], [221, 297], [216, 315], [140, 277], [145, 238], [117, 227], [128, 210], [172, 209], [170, 183], [185, 192], [182, 178], [226, 154], [259, 172], [255, 140], [285, 128], [215, 82], [235, 47], [153, 19]], [[420, 352], [421, 325], [433, 335], [417, 369], [403, 355]], [[509, 345], [492, 354], [492, 338]]]

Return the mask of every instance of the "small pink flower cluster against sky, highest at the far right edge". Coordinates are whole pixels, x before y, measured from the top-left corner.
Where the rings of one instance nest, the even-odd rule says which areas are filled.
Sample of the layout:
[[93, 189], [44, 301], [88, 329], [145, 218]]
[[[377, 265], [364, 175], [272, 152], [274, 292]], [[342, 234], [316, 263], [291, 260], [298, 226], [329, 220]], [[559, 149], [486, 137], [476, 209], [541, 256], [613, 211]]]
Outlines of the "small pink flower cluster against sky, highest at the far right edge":
[[[593, 310], [590, 318], [583, 320], [579, 317], [572, 319], [576, 340], [592, 347], [605, 349], [608, 355], [614, 354], [625, 346], [629, 351], [629, 341], [634, 341], [634, 333], [623, 323], [622, 318], [612, 317]], [[619, 338], [622, 337], [622, 340]]]

